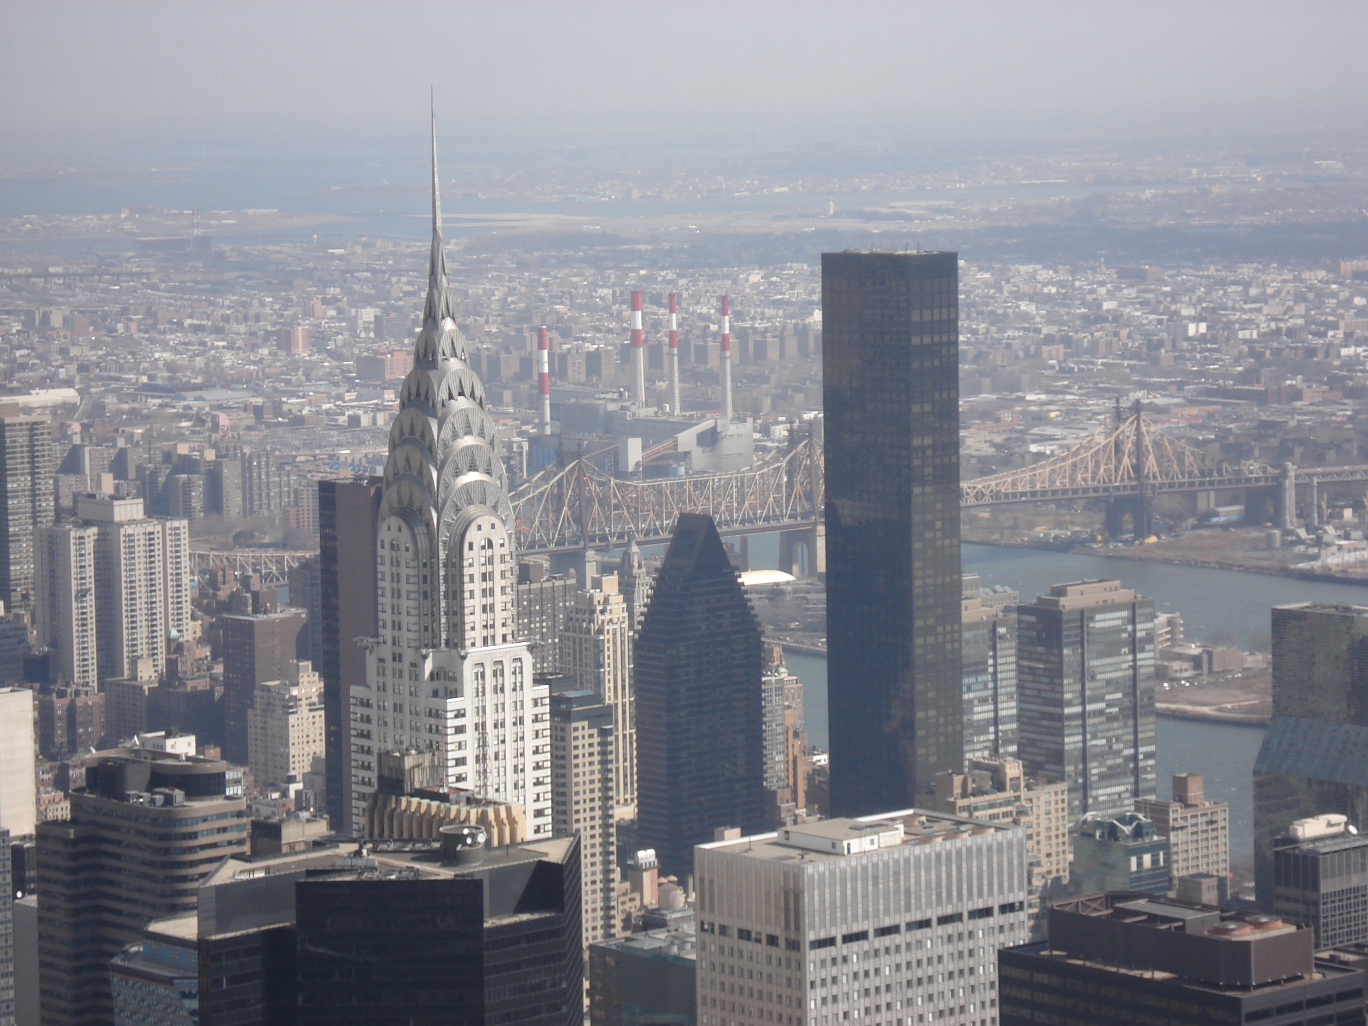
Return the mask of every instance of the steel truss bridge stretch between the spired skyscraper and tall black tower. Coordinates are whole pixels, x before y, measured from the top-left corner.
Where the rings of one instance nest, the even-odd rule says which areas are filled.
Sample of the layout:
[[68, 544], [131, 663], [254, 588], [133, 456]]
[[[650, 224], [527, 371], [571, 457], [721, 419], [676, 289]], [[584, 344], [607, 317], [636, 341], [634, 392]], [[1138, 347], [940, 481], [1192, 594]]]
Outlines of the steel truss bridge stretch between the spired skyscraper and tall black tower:
[[512, 501], [523, 553], [665, 542], [680, 513], [709, 513], [733, 535], [808, 528], [825, 501], [822, 447], [807, 438], [735, 473], [629, 480], [580, 457], [546, 468]]

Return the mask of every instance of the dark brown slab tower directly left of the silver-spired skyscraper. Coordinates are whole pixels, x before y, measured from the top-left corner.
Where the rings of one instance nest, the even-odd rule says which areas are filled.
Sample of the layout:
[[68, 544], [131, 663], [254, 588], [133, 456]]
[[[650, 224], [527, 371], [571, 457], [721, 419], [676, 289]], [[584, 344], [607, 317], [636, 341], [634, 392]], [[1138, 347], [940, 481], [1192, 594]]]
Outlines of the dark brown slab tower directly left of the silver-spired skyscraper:
[[350, 558], [349, 546], [371, 551], [380, 516], [379, 477], [319, 482], [319, 633], [316, 669], [323, 677], [327, 813], [334, 829], [352, 830], [352, 688], [365, 685], [367, 651], [357, 637], [375, 631], [376, 570]]

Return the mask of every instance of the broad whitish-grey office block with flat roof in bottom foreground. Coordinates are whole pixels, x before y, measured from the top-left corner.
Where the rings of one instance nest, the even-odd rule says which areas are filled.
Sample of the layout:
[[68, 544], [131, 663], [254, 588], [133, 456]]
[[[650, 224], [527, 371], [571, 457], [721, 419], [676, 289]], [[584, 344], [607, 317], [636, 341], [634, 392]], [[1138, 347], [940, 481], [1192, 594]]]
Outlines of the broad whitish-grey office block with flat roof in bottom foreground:
[[1026, 834], [903, 810], [700, 844], [700, 1026], [996, 1026]]

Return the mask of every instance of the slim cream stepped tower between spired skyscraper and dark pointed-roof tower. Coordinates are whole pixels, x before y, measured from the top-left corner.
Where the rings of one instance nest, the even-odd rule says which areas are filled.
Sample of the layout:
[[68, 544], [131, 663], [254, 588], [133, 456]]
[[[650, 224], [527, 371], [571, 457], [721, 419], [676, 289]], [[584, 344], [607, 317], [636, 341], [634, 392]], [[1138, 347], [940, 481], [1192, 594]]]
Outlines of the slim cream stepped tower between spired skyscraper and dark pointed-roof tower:
[[[636, 714], [631, 632], [617, 575], [591, 577], [565, 610], [561, 670], [613, 710], [613, 802], [636, 806]], [[595, 938], [596, 940], [596, 938]]]

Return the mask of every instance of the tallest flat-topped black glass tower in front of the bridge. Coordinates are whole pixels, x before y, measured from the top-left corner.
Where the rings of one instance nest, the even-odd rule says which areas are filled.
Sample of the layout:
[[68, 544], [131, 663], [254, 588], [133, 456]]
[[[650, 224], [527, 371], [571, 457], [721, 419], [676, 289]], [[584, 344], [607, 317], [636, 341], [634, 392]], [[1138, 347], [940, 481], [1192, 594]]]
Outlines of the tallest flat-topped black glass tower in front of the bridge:
[[832, 814], [964, 762], [959, 259], [822, 253]]

